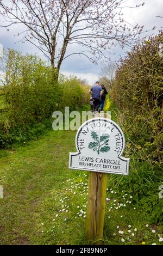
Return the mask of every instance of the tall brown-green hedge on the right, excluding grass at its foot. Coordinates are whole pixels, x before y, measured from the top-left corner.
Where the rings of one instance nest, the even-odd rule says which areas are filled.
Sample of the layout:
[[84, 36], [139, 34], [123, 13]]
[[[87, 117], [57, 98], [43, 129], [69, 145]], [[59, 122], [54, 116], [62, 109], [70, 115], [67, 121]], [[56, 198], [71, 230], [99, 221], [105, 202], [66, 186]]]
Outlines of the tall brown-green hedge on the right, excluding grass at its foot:
[[118, 123], [139, 159], [160, 161], [163, 152], [163, 32], [134, 47], [121, 60], [111, 97], [121, 114]]

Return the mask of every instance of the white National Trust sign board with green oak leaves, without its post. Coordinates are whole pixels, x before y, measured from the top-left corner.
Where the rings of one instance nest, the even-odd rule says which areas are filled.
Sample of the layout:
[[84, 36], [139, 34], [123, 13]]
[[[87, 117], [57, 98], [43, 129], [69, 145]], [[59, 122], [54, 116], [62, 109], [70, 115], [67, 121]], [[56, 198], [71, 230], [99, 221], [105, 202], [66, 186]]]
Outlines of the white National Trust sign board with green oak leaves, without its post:
[[129, 159], [122, 157], [125, 139], [121, 128], [107, 118], [86, 121], [76, 135], [77, 153], [70, 153], [69, 168], [128, 175]]

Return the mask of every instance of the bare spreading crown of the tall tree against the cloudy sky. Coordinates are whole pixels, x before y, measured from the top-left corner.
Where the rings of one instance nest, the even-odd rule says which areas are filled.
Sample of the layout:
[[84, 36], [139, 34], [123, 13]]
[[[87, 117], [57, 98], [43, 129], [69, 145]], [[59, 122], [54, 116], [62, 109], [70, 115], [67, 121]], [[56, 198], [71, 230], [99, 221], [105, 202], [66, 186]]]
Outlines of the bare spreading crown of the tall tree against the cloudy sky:
[[[25, 29], [17, 34], [20, 41], [39, 48], [59, 71], [62, 61], [72, 54], [97, 63], [114, 45], [135, 42], [143, 27], [123, 19], [123, 8], [134, 8], [125, 6], [127, 1], [0, 0], [1, 26], [9, 31], [12, 25], [23, 24]], [[78, 44], [79, 52], [66, 55], [68, 44]]]

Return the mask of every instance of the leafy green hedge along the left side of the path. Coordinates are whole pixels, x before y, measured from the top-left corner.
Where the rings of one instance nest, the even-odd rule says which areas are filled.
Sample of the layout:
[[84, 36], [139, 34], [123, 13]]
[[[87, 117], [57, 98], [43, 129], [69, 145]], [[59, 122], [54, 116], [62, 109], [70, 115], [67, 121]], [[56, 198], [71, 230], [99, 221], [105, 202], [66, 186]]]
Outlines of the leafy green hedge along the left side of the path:
[[[23, 143], [52, 127], [52, 113], [88, 101], [75, 77], [55, 80], [54, 69], [36, 55], [9, 49], [1, 60], [0, 148]], [[49, 123], [51, 125], [49, 125]]]

